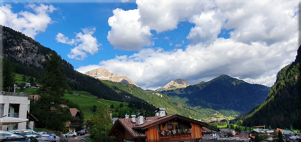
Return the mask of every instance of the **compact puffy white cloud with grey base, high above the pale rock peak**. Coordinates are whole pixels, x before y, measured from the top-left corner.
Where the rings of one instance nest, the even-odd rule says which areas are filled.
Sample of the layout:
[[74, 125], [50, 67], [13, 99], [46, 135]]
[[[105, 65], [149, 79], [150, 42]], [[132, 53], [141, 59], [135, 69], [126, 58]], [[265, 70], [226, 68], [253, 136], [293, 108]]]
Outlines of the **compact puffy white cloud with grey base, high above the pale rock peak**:
[[138, 9], [124, 11], [117, 8], [113, 14], [108, 20], [111, 30], [107, 39], [115, 49], [136, 51], [152, 45], [152, 34], [148, 26], [142, 26], [139, 22]]

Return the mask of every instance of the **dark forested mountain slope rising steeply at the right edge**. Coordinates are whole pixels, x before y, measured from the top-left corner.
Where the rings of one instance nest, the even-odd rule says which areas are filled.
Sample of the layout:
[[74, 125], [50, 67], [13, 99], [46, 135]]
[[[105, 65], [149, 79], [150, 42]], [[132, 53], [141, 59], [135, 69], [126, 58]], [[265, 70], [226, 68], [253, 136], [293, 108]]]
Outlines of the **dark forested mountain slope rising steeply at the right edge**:
[[301, 128], [299, 47], [296, 60], [282, 68], [271, 91], [258, 109], [244, 118], [243, 125], [271, 125], [272, 128]]

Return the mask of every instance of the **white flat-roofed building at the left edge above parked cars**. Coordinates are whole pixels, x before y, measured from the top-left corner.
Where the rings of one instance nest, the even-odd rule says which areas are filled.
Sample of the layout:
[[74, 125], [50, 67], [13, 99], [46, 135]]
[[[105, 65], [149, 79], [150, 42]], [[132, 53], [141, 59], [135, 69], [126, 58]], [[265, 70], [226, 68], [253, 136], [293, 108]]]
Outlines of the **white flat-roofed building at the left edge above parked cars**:
[[[27, 113], [29, 113], [29, 105], [30, 98], [27, 94], [0, 92], [0, 117], [6, 115], [9, 117], [26, 119]], [[0, 125], [0, 130], [26, 129], [26, 125], [28, 125], [28, 122], [13, 125]]]

